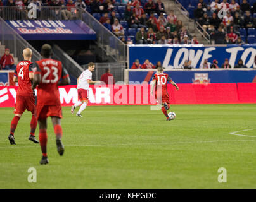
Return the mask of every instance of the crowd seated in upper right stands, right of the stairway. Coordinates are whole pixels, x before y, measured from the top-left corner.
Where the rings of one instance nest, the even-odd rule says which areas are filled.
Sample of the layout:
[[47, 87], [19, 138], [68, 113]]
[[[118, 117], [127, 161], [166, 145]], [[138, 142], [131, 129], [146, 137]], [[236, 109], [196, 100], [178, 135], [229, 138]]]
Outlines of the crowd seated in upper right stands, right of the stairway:
[[256, 1], [250, 0], [251, 4], [248, 1], [196, 0], [193, 14], [215, 44], [253, 44], [256, 43]]

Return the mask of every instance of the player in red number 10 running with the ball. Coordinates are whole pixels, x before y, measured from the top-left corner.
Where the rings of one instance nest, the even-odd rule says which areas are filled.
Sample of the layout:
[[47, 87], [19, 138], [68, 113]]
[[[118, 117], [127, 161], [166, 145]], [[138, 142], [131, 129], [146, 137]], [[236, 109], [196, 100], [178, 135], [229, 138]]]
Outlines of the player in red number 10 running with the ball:
[[157, 68], [158, 73], [153, 76], [153, 83], [151, 86], [151, 95], [153, 96], [153, 89], [155, 88], [155, 98], [157, 99], [158, 104], [162, 104], [162, 112], [167, 118], [167, 121], [170, 121], [167, 110], [170, 109], [170, 97], [167, 92], [167, 83], [168, 81], [176, 87], [176, 90], [179, 90], [179, 87], [172, 81], [172, 78], [168, 74], [163, 73], [163, 67], [159, 66]]

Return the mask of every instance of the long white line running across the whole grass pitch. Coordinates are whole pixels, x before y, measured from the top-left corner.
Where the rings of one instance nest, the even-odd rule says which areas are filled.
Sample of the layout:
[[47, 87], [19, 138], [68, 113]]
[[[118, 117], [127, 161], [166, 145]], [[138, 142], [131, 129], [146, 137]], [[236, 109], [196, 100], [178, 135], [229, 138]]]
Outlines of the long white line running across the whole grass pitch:
[[[252, 136], [250, 136], [252, 137]], [[117, 143], [117, 144], [100, 144], [100, 145], [64, 145], [66, 147], [92, 147], [92, 146], [127, 146], [127, 145], [178, 145], [178, 144], [195, 144], [195, 143], [225, 143], [225, 142], [243, 142], [256, 140], [213, 140], [213, 141], [177, 141], [172, 143]], [[34, 148], [37, 146], [2, 146], [0, 149], [6, 148]]]

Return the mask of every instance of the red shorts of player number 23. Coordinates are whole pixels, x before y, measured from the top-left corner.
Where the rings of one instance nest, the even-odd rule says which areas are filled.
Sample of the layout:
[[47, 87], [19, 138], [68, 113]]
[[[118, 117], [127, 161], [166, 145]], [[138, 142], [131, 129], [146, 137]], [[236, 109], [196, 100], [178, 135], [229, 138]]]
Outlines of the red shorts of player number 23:
[[37, 117], [37, 119], [46, 119], [49, 116], [56, 116], [61, 119], [61, 105], [36, 105], [35, 117]]

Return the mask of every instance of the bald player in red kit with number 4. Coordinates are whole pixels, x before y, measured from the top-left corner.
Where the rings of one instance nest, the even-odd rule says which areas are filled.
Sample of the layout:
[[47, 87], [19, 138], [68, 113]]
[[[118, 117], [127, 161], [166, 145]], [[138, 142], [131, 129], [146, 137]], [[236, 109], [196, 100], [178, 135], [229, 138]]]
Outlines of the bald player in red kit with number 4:
[[33, 71], [32, 66], [33, 63], [31, 62], [32, 57], [32, 50], [27, 48], [23, 50], [23, 58], [24, 60], [18, 62], [15, 74], [13, 76], [13, 81], [18, 82], [18, 90], [16, 94], [16, 103], [15, 103], [15, 116], [11, 121], [11, 129], [10, 135], [8, 139], [11, 145], [16, 145], [14, 132], [17, 127], [18, 121], [22, 116], [23, 112], [27, 109], [32, 113], [32, 119], [30, 122], [30, 136], [29, 140], [33, 141], [34, 143], [39, 143], [38, 140], [35, 139], [35, 129], [37, 128], [37, 120], [35, 118], [35, 93], [31, 89], [32, 80], [33, 80]]

